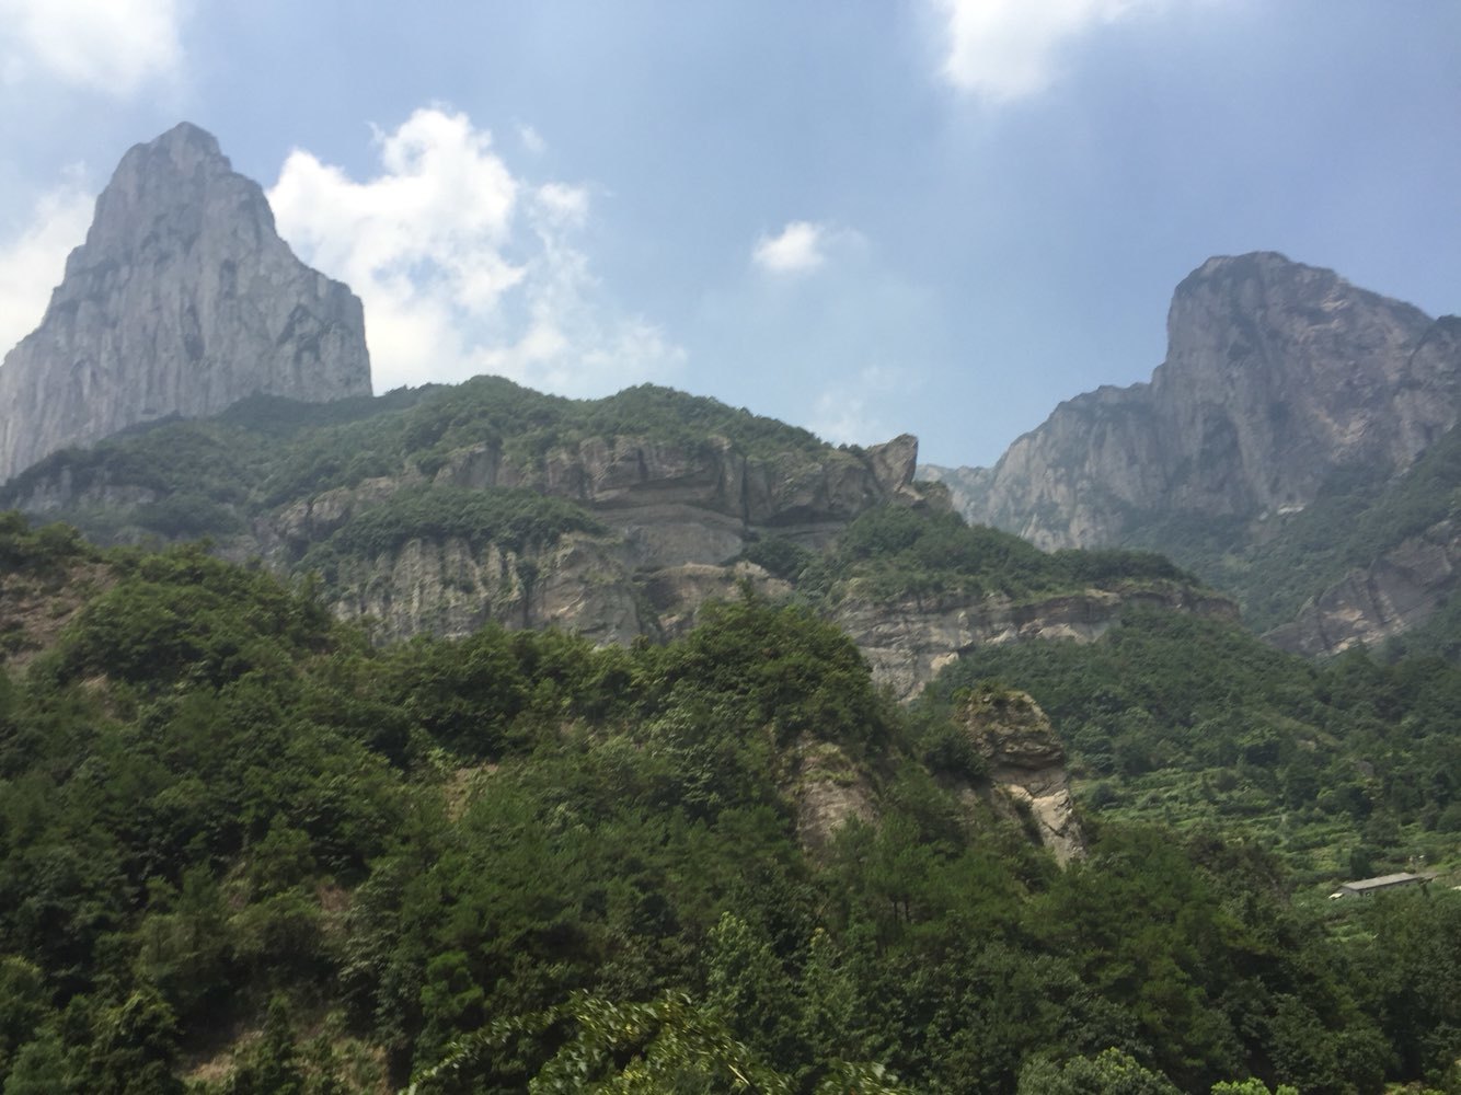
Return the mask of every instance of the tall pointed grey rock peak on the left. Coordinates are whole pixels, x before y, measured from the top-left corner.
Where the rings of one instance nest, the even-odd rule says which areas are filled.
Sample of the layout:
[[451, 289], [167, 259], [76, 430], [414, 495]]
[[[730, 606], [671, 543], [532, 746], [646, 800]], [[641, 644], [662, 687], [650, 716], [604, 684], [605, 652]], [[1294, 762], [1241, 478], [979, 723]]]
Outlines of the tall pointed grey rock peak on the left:
[[361, 302], [187, 123], [123, 156], [41, 326], [0, 368], [0, 482], [48, 453], [254, 393], [370, 394]]

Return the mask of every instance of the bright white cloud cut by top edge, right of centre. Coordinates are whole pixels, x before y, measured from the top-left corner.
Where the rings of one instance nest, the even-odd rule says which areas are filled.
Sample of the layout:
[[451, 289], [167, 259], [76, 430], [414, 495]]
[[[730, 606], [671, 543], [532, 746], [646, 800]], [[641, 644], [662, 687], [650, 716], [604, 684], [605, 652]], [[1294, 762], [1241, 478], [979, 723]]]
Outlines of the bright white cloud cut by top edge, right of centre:
[[1045, 91], [1061, 48], [1080, 35], [1164, 0], [934, 0], [944, 20], [942, 76], [991, 102]]

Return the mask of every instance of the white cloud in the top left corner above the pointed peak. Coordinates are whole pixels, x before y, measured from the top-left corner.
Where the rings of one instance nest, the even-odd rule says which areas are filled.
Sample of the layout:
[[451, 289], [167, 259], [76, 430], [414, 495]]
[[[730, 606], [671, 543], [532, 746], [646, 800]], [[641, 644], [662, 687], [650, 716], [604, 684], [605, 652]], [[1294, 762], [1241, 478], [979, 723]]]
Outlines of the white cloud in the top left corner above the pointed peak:
[[0, 0], [0, 82], [126, 96], [177, 73], [181, 22], [180, 0]]

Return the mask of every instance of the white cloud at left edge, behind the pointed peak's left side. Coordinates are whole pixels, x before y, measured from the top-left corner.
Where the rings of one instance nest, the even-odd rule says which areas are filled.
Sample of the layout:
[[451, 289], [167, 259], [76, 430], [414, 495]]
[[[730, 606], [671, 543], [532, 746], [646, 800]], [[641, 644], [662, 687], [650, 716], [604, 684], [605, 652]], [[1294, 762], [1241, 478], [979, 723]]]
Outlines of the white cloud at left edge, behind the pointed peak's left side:
[[82, 185], [82, 169], [73, 168], [67, 181], [37, 200], [29, 226], [0, 245], [0, 356], [41, 323], [66, 256], [86, 238], [95, 201]]

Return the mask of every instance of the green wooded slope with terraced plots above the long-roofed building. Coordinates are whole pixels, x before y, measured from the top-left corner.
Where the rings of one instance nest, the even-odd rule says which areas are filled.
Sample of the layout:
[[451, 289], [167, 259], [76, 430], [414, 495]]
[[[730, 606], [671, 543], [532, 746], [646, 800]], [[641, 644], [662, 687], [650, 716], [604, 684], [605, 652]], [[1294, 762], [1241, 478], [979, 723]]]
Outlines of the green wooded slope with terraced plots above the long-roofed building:
[[1461, 672], [1283, 654], [1218, 620], [1129, 612], [1099, 641], [982, 647], [925, 694], [1029, 691], [1099, 818], [1245, 834], [1297, 883], [1461, 869]]

